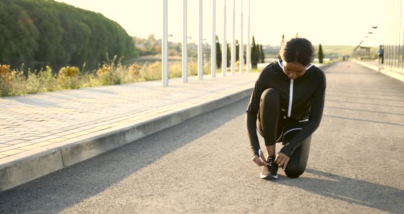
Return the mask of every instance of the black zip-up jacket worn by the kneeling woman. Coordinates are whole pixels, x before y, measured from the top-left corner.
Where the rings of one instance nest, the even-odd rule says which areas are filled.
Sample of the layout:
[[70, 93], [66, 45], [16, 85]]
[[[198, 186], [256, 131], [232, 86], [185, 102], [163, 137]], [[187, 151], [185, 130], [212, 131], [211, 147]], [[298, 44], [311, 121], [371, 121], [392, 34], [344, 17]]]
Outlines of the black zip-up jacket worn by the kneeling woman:
[[290, 80], [283, 72], [281, 60], [268, 64], [255, 82], [247, 107], [247, 130], [253, 155], [259, 155], [260, 143], [256, 122], [261, 95], [267, 88], [279, 91], [281, 109], [287, 112], [288, 119], [295, 121], [309, 119], [303, 124], [299, 134], [281, 149], [281, 153], [290, 157], [301, 142], [320, 125], [325, 101], [325, 74], [312, 65], [301, 77]]

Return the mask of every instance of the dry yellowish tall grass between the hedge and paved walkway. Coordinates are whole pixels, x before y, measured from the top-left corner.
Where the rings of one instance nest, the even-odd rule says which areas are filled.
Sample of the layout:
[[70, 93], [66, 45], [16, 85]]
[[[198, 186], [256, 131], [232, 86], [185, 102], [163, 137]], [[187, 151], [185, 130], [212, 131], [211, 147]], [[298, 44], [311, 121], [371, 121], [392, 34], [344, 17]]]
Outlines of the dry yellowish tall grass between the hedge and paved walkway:
[[[0, 64], [0, 95], [14, 96], [49, 91], [62, 91], [75, 88], [88, 88], [112, 84], [127, 84], [162, 79], [161, 62], [131, 64], [125, 66], [116, 56], [106, 62], [98, 70], [85, 72], [85, 64], [78, 67], [62, 67], [57, 73], [47, 66], [40, 71], [27, 69], [10, 69], [10, 65]], [[180, 78], [181, 62], [168, 64], [169, 78]], [[210, 73], [210, 67], [204, 66], [203, 73]], [[188, 62], [188, 75], [197, 75], [197, 62]]]

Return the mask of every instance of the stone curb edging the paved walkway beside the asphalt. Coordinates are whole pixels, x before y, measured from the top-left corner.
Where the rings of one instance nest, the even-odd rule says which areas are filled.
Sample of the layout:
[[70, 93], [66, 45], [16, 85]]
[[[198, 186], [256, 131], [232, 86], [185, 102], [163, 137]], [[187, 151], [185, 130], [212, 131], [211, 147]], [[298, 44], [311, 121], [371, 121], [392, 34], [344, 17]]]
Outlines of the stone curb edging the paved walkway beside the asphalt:
[[253, 88], [242, 89], [197, 106], [175, 110], [160, 117], [144, 120], [132, 126], [89, 139], [53, 148], [43, 148], [40, 152], [38, 150], [31, 152], [29, 156], [0, 165], [0, 191], [23, 185], [53, 171], [58, 171], [127, 143], [132, 143], [149, 134], [175, 126], [197, 115], [237, 102], [251, 95], [252, 90]]

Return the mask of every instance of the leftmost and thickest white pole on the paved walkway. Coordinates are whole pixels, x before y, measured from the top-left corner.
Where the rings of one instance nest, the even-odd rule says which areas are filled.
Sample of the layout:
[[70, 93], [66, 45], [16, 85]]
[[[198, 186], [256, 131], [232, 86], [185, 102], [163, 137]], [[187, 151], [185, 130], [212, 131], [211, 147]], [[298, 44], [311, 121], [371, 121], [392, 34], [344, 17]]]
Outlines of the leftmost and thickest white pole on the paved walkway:
[[162, 83], [168, 86], [168, 6], [164, 0], [163, 9], [163, 43], [162, 43]]

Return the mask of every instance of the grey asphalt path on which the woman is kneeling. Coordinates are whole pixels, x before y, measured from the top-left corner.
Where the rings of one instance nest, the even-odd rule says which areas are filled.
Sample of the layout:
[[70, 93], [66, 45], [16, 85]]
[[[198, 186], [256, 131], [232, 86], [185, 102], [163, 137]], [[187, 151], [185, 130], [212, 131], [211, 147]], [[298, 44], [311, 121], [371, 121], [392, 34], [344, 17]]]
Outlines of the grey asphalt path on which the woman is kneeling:
[[259, 178], [243, 99], [4, 191], [0, 213], [404, 213], [404, 83], [353, 62], [325, 72], [300, 178]]

